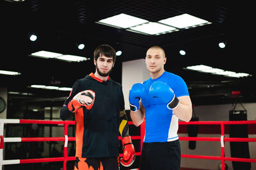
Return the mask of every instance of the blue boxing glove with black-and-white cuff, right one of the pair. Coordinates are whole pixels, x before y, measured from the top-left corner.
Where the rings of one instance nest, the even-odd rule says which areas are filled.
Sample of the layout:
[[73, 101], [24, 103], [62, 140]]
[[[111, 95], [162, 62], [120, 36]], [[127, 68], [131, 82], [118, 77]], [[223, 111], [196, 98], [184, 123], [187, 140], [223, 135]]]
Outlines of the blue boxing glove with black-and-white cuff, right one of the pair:
[[167, 104], [168, 109], [175, 109], [179, 105], [179, 99], [175, 97], [173, 90], [168, 84], [156, 81], [154, 82], [148, 92], [149, 97], [159, 98]]

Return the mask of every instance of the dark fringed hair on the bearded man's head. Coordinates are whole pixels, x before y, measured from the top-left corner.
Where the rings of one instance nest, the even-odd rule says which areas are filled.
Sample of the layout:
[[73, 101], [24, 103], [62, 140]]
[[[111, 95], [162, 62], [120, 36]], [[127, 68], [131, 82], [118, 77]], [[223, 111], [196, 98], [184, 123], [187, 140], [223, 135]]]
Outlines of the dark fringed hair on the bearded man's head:
[[113, 58], [113, 63], [116, 61], [116, 51], [110, 45], [104, 44], [97, 47], [93, 52], [93, 58], [95, 61], [102, 56], [102, 54], [108, 58]]

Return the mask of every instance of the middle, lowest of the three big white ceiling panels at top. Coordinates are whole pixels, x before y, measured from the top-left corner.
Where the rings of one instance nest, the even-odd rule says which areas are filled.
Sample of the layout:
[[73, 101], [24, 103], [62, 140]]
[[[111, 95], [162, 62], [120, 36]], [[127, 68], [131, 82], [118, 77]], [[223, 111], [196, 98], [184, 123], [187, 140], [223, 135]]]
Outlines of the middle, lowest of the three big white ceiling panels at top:
[[170, 33], [176, 30], [175, 27], [166, 26], [157, 22], [148, 22], [146, 24], [141, 24], [139, 26], [130, 27], [127, 29], [129, 31], [138, 31], [140, 33], [145, 33], [148, 35], [159, 35], [163, 33]]

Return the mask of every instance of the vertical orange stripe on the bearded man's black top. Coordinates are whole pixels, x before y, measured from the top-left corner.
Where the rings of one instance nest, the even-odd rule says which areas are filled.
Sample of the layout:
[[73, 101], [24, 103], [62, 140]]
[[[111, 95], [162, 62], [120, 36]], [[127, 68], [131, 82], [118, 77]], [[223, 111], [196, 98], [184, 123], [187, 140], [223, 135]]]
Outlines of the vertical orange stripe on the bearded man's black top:
[[83, 109], [76, 111], [76, 157], [82, 157], [84, 134], [84, 113]]

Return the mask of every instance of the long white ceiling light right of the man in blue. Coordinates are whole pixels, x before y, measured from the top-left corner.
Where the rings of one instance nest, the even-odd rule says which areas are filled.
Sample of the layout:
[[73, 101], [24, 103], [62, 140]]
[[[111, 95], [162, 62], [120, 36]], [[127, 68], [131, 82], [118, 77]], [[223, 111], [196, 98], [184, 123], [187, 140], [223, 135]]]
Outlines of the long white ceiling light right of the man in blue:
[[195, 70], [195, 71], [204, 72], [204, 73], [212, 73], [215, 75], [225, 75], [228, 77], [237, 77], [237, 78], [252, 76], [248, 73], [230, 72], [230, 71], [222, 70], [220, 68], [212, 68], [211, 66], [205, 66], [205, 65], [187, 66], [186, 69]]

